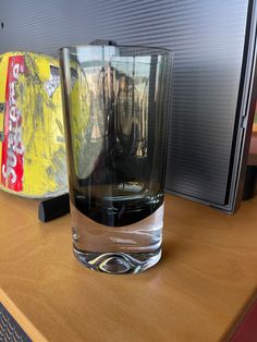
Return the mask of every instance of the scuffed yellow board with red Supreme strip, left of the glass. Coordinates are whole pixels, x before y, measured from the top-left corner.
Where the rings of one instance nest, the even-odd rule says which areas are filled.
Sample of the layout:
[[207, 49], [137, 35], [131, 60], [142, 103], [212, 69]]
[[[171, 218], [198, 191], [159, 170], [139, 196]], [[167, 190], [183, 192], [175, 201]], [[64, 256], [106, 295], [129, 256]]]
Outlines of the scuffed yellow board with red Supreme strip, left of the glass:
[[30, 52], [0, 56], [0, 187], [46, 198], [68, 191], [58, 60]]

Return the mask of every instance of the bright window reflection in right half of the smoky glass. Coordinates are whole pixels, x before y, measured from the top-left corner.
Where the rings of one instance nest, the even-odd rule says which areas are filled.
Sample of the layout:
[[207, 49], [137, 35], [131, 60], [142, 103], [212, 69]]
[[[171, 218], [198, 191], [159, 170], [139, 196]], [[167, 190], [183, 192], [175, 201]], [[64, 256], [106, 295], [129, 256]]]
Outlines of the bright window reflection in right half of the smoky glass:
[[150, 57], [113, 57], [117, 71], [117, 135], [122, 148], [147, 156]]

